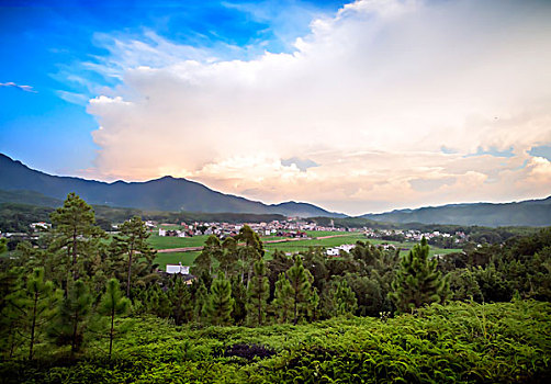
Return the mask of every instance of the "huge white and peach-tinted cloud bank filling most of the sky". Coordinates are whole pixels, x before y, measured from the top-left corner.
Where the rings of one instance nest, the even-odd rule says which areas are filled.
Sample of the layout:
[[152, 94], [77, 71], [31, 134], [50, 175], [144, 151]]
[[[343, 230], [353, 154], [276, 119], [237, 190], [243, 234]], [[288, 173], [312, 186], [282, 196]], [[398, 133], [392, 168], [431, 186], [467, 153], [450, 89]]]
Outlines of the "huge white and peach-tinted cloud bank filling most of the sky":
[[550, 162], [529, 150], [551, 143], [550, 15], [543, 1], [358, 0], [293, 52], [249, 60], [108, 42], [95, 69], [122, 82], [88, 106], [94, 171], [352, 214], [543, 196]]

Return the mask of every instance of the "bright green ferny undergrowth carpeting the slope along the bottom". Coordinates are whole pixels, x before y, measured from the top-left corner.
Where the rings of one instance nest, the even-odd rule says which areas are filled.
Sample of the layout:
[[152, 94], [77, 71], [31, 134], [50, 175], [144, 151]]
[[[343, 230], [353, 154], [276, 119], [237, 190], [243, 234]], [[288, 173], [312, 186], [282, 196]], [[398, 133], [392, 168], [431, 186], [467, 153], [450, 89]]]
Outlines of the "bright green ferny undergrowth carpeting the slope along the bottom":
[[[90, 352], [72, 364], [3, 362], [0, 375], [5, 383], [544, 383], [550, 320], [551, 305], [533, 301], [260, 328], [124, 318], [123, 352], [111, 361]], [[276, 354], [226, 353], [244, 345]]]

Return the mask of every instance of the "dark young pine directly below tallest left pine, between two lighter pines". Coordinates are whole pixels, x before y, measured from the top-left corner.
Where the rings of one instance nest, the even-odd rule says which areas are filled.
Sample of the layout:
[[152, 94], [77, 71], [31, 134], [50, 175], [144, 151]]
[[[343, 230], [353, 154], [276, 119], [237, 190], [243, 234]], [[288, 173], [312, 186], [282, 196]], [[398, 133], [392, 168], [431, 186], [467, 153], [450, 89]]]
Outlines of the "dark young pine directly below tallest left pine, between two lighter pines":
[[71, 357], [82, 345], [91, 306], [92, 295], [82, 280], [69, 284], [67, 297], [64, 297], [59, 305], [58, 315], [49, 334], [59, 345], [71, 346]]

